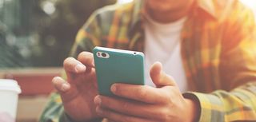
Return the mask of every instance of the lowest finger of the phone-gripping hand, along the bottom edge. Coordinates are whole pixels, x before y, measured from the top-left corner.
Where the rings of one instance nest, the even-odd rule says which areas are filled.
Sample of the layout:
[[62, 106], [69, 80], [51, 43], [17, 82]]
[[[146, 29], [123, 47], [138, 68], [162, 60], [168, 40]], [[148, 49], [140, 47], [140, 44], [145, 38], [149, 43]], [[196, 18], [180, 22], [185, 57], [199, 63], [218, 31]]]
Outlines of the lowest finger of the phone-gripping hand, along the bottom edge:
[[154, 122], [153, 120], [147, 120], [145, 118], [124, 115], [122, 113], [110, 111], [108, 109], [104, 109], [104, 108], [100, 108], [100, 107], [96, 108], [96, 112], [98, 113], [99, 116], [102, 116], [109, 120], [118, 121], [118, 122], [130, 122], [130, 121], [132, 121], [132, 122], [142, 122], [142, 121], [143, 122]]

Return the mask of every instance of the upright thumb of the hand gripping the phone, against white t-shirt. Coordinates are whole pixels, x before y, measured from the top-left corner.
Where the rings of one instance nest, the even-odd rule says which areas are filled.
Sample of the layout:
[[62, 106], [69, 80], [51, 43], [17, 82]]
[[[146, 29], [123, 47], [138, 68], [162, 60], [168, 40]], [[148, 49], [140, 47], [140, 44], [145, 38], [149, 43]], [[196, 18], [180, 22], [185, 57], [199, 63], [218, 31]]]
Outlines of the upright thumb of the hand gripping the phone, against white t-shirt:
[[155, 62], [150, 68], [150, 77], [156, 87], [161, 88], [166, 85], [176, 85], [174, 79], [170, 75], [162, 71], [162, 64]]

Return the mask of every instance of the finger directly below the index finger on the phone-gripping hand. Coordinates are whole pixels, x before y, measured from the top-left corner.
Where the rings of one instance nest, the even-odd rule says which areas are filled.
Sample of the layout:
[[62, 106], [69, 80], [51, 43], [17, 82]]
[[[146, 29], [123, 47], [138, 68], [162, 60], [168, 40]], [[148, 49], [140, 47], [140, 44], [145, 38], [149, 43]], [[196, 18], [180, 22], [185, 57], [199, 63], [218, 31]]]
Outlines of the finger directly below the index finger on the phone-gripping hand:
[[[138, 101], [131, 101], [121, 98], [114, 98], [108, 96], [96, 96], [94, 103], [102, 108], [110, 109], [114, 112], [130, 116], [138, 116], [143, 118], [150, 118], [154, 120], [160, 119], [160, 110], [154, 104], [145, 104]], [[154, 110], [154, 111], [152, 111]]]

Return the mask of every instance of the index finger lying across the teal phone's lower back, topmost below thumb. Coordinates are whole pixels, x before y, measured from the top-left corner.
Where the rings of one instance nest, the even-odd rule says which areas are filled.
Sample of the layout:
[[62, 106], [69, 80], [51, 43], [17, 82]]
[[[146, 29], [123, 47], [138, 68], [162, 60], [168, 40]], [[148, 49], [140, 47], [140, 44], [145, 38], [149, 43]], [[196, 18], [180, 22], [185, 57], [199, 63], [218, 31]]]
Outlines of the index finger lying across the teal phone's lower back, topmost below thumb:
[[165, 102], [166, 93], [162, 90], [147, 85], [114, 84], [111, 86], [111, 91], [116, 96], [138, 100], [148, 104]]

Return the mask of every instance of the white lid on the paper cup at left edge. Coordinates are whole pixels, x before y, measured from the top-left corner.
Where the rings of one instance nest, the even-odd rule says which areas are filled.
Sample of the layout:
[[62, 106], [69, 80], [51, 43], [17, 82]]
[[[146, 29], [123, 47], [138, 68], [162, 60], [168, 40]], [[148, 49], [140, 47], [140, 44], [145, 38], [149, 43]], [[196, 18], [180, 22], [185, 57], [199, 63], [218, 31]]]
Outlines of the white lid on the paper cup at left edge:
[[0, 90], [14, 91], [17, 93], [22, 92], [17, 81], [11, 79], [0, 79]]

